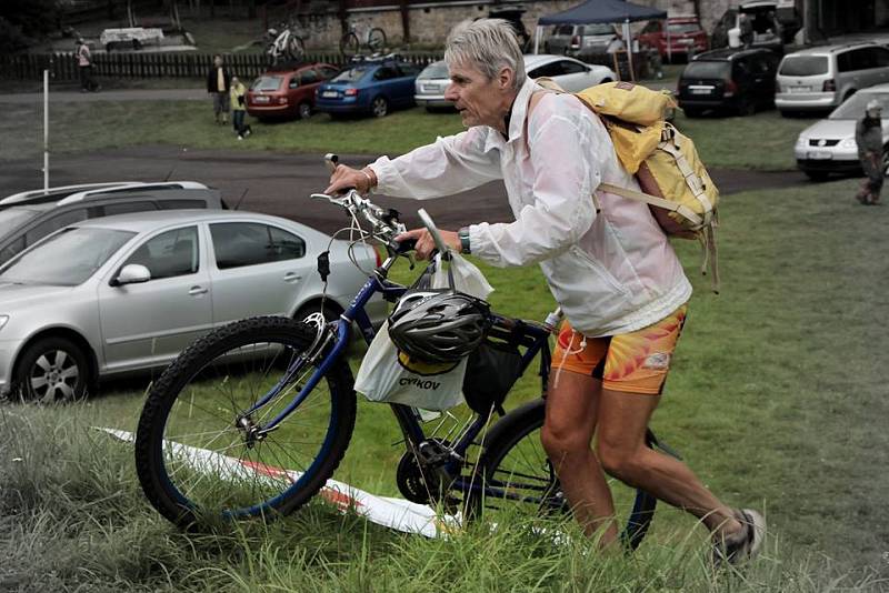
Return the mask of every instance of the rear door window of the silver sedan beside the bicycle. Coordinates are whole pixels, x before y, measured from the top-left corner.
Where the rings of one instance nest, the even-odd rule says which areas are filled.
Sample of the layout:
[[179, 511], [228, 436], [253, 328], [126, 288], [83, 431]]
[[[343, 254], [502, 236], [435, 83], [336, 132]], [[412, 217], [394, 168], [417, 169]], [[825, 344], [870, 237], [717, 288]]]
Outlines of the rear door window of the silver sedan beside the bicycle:
[[259, 222], [220, 222], [210, 225], [220, 270], [293, 260], [306, 255], [306, 241], [277, 227]]

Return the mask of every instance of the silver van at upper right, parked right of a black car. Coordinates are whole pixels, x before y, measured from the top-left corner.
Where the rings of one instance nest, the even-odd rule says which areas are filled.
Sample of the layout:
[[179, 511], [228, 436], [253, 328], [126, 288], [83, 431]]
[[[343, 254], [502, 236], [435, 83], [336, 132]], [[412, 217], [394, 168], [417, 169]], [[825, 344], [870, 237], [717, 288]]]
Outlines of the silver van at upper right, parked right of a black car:
[[782, 115], [829, 111], [856, 91], [889, 82], [889, 49], [849, 43], [800, 50], [781, 60], [775, 105]]

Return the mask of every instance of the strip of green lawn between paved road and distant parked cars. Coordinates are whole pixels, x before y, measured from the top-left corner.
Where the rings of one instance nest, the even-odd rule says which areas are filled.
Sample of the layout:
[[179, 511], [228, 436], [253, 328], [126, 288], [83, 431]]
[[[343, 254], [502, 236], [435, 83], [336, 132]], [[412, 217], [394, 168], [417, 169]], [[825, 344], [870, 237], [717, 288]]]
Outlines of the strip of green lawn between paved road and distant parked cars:
[[[42, 114], [39, 104], [6, 108], [0, 117], [6, 138], [0, 141], [0, 162], [37, 158], [42, 151]], [[250, 119], [250, 118], [248, 118]], [[84, 125], [84, 122], [90, 122]], [[89, 151], [146, 143], [188, 148], [238, 148], [347, 154], [399, 154], [462, 130], [456, 113], [427, 113], [423, 109], [396, 111], [383, 119], [332, 121], [318, 113], [309, 121], [251, 122], [253, 135], [238, 142], [213, 124], [208, 102], [120, 101], [52, 104], [50, 149], [53, 152]], [[723, 169], [790, 170], [793, 143], [811, 120], [785, 119], [777, 111], [751, 118], [686, 119], [676, 124], [697, 144], [708, 167]]]

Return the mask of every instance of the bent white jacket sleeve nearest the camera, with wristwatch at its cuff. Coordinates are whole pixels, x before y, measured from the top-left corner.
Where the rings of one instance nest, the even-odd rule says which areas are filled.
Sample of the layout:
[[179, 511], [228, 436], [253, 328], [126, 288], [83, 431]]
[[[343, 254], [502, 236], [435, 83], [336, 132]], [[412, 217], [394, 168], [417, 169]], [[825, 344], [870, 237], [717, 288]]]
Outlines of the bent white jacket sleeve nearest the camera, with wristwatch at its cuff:
[[549, 111], [532, 118], [528, 144], [533, 203], [525, 205], [515, 222], [469, 228], [472, 253], [493, 265], [526, 265], [558, 255], [577, 243], [596, 218], [592, 192], [601, 171], [592, 154], [609, 147], [591, 124], [579, 127]]

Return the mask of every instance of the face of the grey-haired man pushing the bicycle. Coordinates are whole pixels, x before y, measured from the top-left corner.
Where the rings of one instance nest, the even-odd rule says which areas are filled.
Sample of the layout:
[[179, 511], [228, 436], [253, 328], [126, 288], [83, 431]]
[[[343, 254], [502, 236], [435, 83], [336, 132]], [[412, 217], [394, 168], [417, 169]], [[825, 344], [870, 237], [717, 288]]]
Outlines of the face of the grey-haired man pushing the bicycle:
[[502, 122], [505, 89], [501, 79], [488, 80], [475, 68], [462, 63], [449, 67], [448, 73], [451, 83], [444, 91], [444, 99], [453, 101], [463, 125], [497, 127]]

